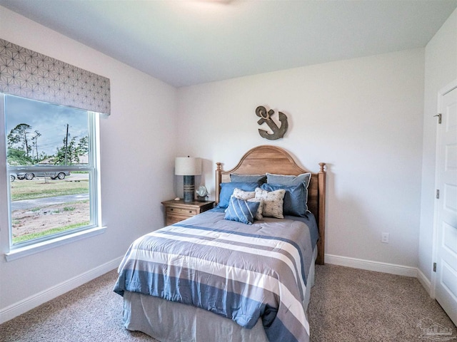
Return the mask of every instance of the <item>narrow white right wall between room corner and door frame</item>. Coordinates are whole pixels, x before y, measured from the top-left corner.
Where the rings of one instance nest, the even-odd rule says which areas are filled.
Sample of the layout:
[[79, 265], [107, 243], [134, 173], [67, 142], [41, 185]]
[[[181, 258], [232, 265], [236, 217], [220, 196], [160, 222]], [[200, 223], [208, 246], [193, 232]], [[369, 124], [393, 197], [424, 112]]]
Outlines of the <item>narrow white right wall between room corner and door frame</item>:
[[438, 91], [457, 79], [457, 10], [426, 46], [421, 229], [418, 269], [431, 280]]

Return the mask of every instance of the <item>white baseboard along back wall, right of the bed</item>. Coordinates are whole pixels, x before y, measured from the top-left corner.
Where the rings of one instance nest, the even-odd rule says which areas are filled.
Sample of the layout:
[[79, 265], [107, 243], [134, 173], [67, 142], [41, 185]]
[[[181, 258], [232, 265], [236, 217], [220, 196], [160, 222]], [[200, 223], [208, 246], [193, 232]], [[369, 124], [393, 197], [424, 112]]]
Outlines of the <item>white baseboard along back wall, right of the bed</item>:
[[396, 274], [398, 276], [413, 276], [415, 278], [418, 276], [418, 269], [416, 267], [388, 264], [386, 262], [380, 261], [363, 260], [325, 254], [325, 262], [326, 264], [352, 267], [353, 269], [366, 269], [368, 271]]

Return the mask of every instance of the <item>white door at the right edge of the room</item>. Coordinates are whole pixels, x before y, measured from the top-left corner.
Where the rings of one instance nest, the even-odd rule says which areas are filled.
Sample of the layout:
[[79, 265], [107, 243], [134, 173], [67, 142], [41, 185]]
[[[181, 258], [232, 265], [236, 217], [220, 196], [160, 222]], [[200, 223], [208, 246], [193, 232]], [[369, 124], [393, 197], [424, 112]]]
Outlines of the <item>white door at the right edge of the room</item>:
[[457, 325], [457, 81], [439, 100], [435, 298]]

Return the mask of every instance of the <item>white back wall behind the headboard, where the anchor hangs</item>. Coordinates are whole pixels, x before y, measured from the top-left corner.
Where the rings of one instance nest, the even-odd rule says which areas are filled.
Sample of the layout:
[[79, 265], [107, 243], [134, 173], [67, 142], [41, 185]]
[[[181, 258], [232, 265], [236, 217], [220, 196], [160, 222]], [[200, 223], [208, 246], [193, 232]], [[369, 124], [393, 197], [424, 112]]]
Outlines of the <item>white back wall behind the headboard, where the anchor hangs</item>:
[[[199, 182], [213, 195], [215, 162], [229, 170], [256, 145], [284, 147], [313, 172], [326, 162], [326, 260], [415, 275], [423, 67], [415, 49], [180, 88], [179, 152], [204, 158]], [[258, 135], [258, 105], [288, 116], [283, 139]]]

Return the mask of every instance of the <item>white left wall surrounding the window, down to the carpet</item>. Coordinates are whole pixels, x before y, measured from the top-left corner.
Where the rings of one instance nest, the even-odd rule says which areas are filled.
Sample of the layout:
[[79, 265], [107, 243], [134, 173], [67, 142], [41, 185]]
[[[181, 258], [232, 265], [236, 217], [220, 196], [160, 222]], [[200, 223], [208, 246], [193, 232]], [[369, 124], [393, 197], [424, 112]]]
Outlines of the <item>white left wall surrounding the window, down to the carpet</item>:
[[[114, 269], [129, 243], [163, 227], [174, 197], [176, 89], [0, 7], [1, 38], [111, 79], [101, 120], [104, 234], [15, 261], [0, 258], [0, 322]], [[5, 150], [4, 132], [0, 150]], [[159, 147], [159, 148], [158, 148]], [[5, 154], [0, 153], [0, 254], [8, 250]]]

